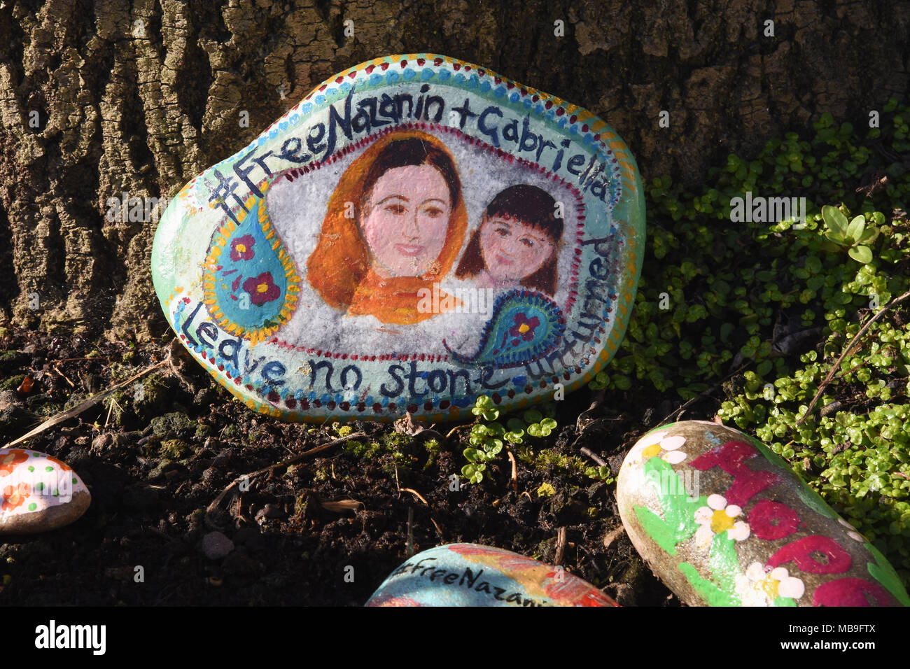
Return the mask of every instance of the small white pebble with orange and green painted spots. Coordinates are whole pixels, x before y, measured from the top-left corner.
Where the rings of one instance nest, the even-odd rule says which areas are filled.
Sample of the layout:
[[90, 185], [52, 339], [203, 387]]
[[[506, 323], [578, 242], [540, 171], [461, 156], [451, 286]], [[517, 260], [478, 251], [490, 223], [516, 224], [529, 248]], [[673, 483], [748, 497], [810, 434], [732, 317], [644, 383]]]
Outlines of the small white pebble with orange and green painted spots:
[[28, 449], [0, 449], [0, 534], [56, 530], [76, 521], [92, 496], [78, 474]]

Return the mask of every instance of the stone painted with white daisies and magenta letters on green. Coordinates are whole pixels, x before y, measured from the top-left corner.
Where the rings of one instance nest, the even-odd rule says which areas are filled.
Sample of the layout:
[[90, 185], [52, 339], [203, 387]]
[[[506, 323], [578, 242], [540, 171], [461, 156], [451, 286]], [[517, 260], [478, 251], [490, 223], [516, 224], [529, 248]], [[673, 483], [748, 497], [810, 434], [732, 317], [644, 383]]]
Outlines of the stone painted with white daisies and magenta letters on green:
[[617, 498], [635, 548], [690, 605], [910, 603], [882, 553], [743, 432], [704, 421], [648, 432]]

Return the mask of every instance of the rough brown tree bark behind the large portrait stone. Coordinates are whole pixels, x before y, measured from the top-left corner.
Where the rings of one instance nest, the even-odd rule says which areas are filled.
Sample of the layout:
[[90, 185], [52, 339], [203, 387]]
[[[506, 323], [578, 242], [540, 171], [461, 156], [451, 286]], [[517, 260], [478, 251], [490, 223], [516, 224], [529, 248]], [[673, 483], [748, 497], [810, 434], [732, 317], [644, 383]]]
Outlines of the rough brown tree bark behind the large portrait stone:
[[108, 198], [173, 196], [368, 58], [490, 67], [603, 117], [646, 179], [694, 186], [825, 111], [864, 122], [905, 97], [908, 24], [910, 2], [846, 0], [5, 0], [0, 327], [159, 337], [156, 221], [109, 221]]

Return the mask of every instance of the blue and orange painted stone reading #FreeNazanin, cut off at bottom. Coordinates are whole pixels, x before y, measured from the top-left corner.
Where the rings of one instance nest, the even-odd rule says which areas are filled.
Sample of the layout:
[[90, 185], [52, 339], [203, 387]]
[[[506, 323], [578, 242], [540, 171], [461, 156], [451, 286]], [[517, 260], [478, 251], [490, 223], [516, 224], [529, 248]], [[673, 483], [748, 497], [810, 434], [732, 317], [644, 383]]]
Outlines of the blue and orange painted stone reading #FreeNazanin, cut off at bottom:
[[367, 606], [618, 606], [561, 567], [500, 548], [450, 543], [414, 555]]

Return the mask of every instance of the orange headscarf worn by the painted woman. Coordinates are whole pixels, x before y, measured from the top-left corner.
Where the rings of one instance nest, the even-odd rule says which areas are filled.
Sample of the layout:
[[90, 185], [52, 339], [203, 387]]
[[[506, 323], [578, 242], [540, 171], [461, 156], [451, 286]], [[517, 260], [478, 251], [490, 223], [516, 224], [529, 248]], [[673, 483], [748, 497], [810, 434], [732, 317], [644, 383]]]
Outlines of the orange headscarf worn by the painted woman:
[[[419, 291], [432, 291], [433, 284], [449, 273], [464, 241], [468, 212], [459, 187], [457, 201], [452, 202], [445, 243], [430, 271], [419, 277], [385, 278], [370, 267], [369, 251], [360, 236], [357, 221], [345, 218], [346, 203], [354, 203], [359, 217], [360, 205], [367, 195], [363, 189], [369, 167], [391, 142], [411, 138], [419, 138], [440, 149], [451, 159], [449, 150], [440, 139], [419, 130], [396, 131], [379, 138], [339, 178], [338, 186], [329, 198], [319, 242], [307, 260], [309, 284], [319, 291], [329, 306], [342, 309], [350, 316], [369, 315], [383, 323], [409, 325], [437, 315], [439, 311], [430, 313], [418, 310], [420, 298], [426, 295]], [[452, 159], [452, 164], [454, 163]], [[450, 299], [450, 296], [439, 290], [438, 295], [438, 301], [434, 299], [434, 304], [440, 307], [444, 299], [448, 305], [460, 305], [459, 300]], [[442, 310], [446, 310], [445, 307], [440, 309]]]

